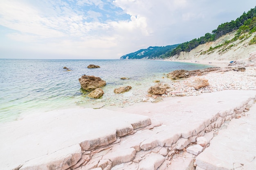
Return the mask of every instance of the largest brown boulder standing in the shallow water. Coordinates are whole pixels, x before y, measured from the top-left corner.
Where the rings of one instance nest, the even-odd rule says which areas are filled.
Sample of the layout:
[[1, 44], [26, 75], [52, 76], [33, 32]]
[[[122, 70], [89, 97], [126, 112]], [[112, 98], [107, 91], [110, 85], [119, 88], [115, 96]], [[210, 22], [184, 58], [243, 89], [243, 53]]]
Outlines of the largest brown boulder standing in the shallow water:
[[81, 87], [85, 90], [97, 89], [106, 85], [106, 81], [101, 80], [99, 77], [83, 75], [79, 78]]

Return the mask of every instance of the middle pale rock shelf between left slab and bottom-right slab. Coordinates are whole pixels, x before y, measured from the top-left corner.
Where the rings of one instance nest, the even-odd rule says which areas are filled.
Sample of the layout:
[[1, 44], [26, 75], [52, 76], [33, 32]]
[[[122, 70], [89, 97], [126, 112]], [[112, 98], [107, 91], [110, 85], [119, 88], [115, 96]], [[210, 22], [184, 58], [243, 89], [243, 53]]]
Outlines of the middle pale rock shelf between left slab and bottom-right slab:
[[[150, 165], [146, 168], [193, 170], [195, 169], [193, 166], [194, 160], [199, 152], [192, 149], [191, 153], [195, 155], [187, 153], [189, 152], [188, 147], [193, 148], [197, 138], [203, 135], [206, 143], [202, 144], [201, 141], [199, 144], [204, 145], [204, 148], [207, 147], [216, 133], [216, 129], [220, 128], [226, 120], [235, 118], [237, 114], [252, 106], [255, 97], [256, 91], [236, 93], [226, 91], [203, 94], [200, 97], [172, 98], [164, 102], [151, 104], [153, 108], [146, 104], [144, 108], [148, 110], [140, 112], [140, 114], [149, 116], [153, 120], [152, 122], [161, 122], [161, 126], [157, 125], [154, 128], [150, 126], [150, 129], [138, 130], [133, 135], [120, 137], [118, 143], [108, 145], [108, 147], [101, 148], [98, 151], [97, 149], [94, 150], [93, 152], [96, 154], [90, 154], [92, 159], [76, 170], [89, 170], [91, 165], [94, 165], [94, 168], [99, 168], [100, 166], [97, 163], [102, 159], [102, 155], [129, 148], [134, 148], [137, 152], [134, 159], [130, 162], [120, 161], [120, 164], [115, 164], [112, 167], [113, 170], [138, 169], [142, 167], [140, 166], [141, 161], [143, 163], [143, 160], [152, 154], [155, 159], [152, 158], [153, 156], [150, 156], [150, 159], [158, 160], [159, 157], [164, 157], [165, 160], [160, 166], [158, 163], [150, 161], [154, 166]], [[139, 110], [136, 106], [133, 108], [135, 109], [126, 108], [124, 111], [135, 113]], [[200, 147], [200, 151], [202, 151], [202, 146]], [[186, 149], [188, 150], [186, 151]], [[180, 167], [182, 162], [184, 165]], [[107, 169], [103, 168], [103, 170]]]

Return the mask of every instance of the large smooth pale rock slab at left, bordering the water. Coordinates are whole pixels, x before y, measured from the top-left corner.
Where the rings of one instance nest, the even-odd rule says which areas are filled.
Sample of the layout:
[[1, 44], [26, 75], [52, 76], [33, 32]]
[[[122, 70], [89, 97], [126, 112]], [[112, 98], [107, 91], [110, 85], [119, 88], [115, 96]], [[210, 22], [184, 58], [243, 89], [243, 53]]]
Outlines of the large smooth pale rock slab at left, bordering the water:
[[67, 169], [67, 165], [72, 166], [80, 159], [81, 150], [115, 142], [118, 136], [150, 123], [147, 116], [106, 109], [72, 108], [27, 115], [0, 124], [0, 169], [14, 169], [23, 164], [23, 169], [32, 165], [38, 168], [36, 162], [47, 167], [51, 161], [70, 160], [72, 163], [63, 164]]

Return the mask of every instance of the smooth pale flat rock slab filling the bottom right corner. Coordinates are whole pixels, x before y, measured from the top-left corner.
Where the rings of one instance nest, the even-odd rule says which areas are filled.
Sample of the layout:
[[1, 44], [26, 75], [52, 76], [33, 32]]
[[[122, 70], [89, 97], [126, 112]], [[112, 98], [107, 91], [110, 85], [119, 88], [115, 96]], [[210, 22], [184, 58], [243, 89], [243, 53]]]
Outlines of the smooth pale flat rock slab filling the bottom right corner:
[[[197, 166], [205, 170], [256, 168], [256, 105], [248, 116], [233, 119], [227, 129], [219, 131], [210, 146], [196, 158]], [[198, 169], [198, 168], [197, 168]]]

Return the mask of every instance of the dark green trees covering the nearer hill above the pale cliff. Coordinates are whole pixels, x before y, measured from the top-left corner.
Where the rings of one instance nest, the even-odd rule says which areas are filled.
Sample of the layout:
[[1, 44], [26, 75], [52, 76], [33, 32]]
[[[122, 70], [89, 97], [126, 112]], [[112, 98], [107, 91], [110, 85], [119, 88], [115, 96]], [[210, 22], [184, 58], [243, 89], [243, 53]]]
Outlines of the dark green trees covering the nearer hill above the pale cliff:
[[179, 46], [177, 46], [177, 48], [171, 51], [171, 56], [179, 54], [181, 51], [188, 52], [193, 48], [196, 48], [200, 44], [214, 41], [222, 35], [225, 35], [235, 30], [238, 30], [238, 35], [240, 35], [241, 32], [243, 33], [243, 31], [256, 31], [256, 7], [254, 7], [247, 13], [244, 12], [243, 15], [238, 17], [236, 20], [220, 24], [217, 29], [212, 31], [212, 33], [206, 33], [203, 37], [200, 37], [198, 39], [192, 39], [191, 41], [180, 44]]

